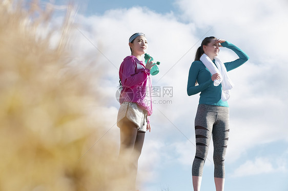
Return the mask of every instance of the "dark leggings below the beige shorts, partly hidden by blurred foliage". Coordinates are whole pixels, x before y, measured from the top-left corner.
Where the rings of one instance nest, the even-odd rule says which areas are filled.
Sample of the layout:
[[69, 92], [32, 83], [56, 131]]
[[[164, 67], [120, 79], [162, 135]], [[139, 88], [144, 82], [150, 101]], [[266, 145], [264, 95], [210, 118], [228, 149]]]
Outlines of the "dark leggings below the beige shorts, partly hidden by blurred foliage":
[[131, 175], [131, 184], [135, 190], [136, 175], [138, 169], [138, 159], [140, 157], [145, 132], [137, 130], [137, 126], [127, 118], [123, 119], [123, 125], [120, 127], [120, 152], [119, 157], [127, 157], [129, 160], [129, 174]]

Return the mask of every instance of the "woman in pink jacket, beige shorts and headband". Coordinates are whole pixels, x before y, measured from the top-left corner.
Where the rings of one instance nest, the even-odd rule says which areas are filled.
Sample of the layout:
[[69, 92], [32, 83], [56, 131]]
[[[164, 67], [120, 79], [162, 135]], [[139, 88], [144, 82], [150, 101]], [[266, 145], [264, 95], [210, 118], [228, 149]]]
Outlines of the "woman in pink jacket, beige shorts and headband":
[[131, 188], [135, 190], [138, 159], [141, 154], [145, 132], [151, 131], [149, 116], [152, 114], [150, 69], [155, 61], [146, 65], [141, 61], [147, 52], [148, 41], [143, 33], [135, 33], [129, 39], [132, 55], [120, 65], [120, 108], [117, 126], [120, 128], [119, 158], [129, 160]]

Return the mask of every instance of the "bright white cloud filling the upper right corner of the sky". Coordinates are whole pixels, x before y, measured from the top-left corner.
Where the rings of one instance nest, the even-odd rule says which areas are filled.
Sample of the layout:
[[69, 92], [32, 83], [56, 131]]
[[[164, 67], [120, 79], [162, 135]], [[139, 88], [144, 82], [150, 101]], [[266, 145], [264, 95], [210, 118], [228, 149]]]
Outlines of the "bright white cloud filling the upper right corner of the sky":
[[256, 60], [276, 55], [283, 58], [288, 51], [283, 45], [288, 30], [286, 1], [179, 0], [177, 5], [184, 20], [204, 29], [213, 28], [216, 36], [245, 47], [257, 56]]

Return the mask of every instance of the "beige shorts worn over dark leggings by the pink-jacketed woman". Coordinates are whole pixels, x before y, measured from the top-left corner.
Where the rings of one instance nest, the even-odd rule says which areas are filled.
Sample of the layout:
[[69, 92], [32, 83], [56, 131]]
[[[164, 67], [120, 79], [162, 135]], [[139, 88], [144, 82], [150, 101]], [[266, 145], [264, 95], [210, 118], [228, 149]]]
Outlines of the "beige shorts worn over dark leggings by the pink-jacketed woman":
[[146, 132], [147, 111], [141, 109], [138, 104], [133, 102], [124, 102], [121, 104], [117, 116], [117, 126], [119, 128], [123, 125], [123, 119], [125, 117], [137, 125], [138, 131]]

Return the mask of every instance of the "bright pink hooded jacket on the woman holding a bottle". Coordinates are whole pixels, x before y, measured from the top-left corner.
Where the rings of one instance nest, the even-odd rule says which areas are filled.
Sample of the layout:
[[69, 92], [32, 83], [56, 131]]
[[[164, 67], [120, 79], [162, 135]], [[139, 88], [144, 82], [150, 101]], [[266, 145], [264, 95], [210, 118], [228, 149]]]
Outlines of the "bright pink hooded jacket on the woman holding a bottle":
[[[140, 108], [152, 114], [152, 98], [150, 70], [135, 56], [127, 56], [120, 65], [119, 77], [122, 84], [120, 104], [124, 102], [137, 103]], [[149, 122], [149, 120], [148, 120]]]

